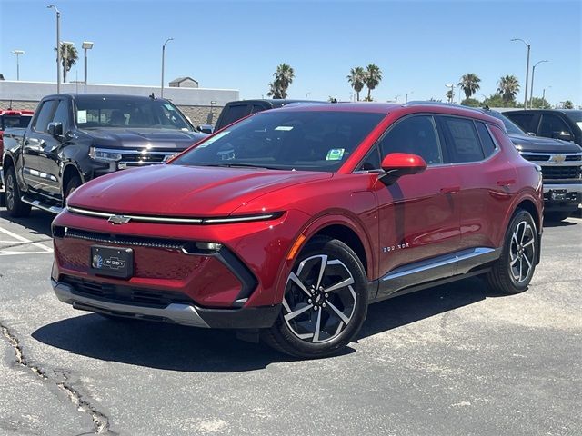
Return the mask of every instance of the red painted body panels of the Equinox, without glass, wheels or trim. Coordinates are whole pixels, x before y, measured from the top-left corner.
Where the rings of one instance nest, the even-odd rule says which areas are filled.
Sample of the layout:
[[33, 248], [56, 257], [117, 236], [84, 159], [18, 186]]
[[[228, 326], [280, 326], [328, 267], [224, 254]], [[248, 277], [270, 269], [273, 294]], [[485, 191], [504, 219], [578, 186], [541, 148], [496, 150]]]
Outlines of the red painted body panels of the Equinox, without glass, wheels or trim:
[[[533, 203], [541, 216], [541, 179], [535, 165], [517, 154], [499, 128], [500, 122], [486, 114], [430, 104], [297, 105], [277, 111], [374, 112], [386, 117], [336, 173], [169, 164], [105, 175], [85, 183], [68, 201], [70, 206], [92, 211], [161, 217], [283, 213], [276, 219], [206, 225], [135, 221], [113, 225], [104, 218], [65, 210], [54, 225], [118, 236], [221, 243], [256, 278], [256, 288], [246, 302], [246, 307], [253, 307], [281, 302], [294, 263], [287, 260], [287, 254], [301, 235], [306, 236], [305, 246], [316, 233], [331, 228], [355, 234], [367, 278], [374, 281], [398, 266], [441, 254], [471, 247], [500, 247], [519, 203]], [[384, 160], [387, 166], [415, 171], [391, 183], [381, 172], [357, 172], [377, 139], [409, 114], [449, 114], [485, 121], [499, 150], [483, 162], [435, 166], [426, 166], [416, 155], [393, 154]], [[95, 277], [88, 265], [91, 244], [55, 238], [54, 278], [69, 274], [178, 291], [206, 307], [231, 307], [241, 290], [235, 274], [216, 258], [140, 246], [134, 248], [134, 277], [128, 281]]]

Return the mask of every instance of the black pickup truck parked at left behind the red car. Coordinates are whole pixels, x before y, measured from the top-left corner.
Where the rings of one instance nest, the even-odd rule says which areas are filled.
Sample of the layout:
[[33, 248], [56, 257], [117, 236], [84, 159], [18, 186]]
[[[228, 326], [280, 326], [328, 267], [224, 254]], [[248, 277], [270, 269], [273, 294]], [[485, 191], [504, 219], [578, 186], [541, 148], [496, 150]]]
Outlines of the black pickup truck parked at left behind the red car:
[[6, 209], [59, 213], [82, 183], [129, 167], [165, 163], [206, 134], [172, 103], [154, 97], [55, 94], [22, 130], [5, 131]]

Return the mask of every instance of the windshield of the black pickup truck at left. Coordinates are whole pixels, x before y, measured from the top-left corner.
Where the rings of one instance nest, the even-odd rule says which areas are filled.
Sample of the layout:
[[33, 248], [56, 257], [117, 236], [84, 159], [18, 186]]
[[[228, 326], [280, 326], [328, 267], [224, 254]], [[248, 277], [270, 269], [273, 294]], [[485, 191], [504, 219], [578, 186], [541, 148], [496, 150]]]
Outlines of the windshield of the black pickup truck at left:
[[184, 115], [166, 100], [95, 97], [75, 101], [80, 129], [126, 127], [192, 130]]

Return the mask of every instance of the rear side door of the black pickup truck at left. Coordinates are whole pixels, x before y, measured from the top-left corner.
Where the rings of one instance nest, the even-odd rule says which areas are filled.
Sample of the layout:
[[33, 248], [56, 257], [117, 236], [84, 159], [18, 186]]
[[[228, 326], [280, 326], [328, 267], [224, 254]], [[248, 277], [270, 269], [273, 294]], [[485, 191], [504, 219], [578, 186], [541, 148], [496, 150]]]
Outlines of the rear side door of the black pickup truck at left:
[[25, 183], [38, 192], [44, 192], [48, 176], [42, 170], [41, 154], [47, 144], [53, 143], [48, 124], [53, 120], [58, 101], [45, 100], [37, 110], [33, 124], [27, 130], [23, 144], [23, 177]]

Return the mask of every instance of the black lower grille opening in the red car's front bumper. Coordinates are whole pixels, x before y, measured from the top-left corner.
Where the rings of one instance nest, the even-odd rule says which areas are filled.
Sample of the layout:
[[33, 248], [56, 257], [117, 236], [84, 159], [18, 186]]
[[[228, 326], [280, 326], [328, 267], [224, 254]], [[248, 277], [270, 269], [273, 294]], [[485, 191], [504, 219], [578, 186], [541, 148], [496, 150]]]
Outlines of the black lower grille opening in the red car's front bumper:
[[192, 299], [179, 292], [139, 289], [131, 286], [94, 282], [69, 275], [65, 275], [62, 280], [73, 287], [73, 293], [75, 295], [95, 298], [107, 302], [136, 304], [162, 309], [172, 303], [194, 304]]

